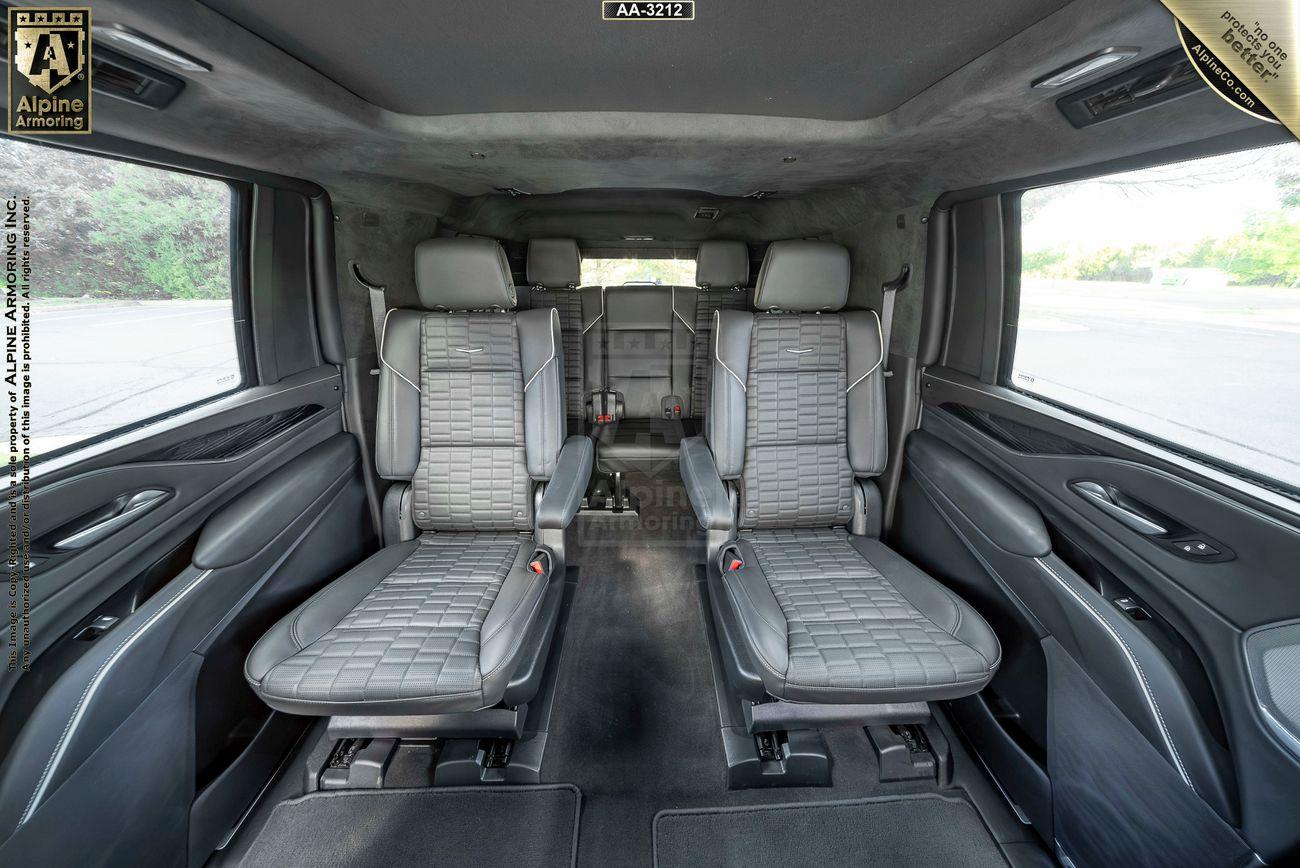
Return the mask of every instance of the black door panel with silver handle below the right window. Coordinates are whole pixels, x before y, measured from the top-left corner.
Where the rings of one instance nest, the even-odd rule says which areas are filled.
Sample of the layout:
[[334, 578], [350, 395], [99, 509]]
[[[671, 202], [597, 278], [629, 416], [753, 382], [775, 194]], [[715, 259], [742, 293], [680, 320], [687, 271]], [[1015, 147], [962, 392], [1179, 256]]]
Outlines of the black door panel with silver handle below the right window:
[[[993, 759], [985, 759], [1004, 786], [1013, 790], [1020, 782], [1019, 798], [1034, 798], [1032, 781], [1040, 780], [1039, 772], [1052, 774], [1053, 750], [1061, 750], [1060, 742], [1053, 745], [1046, 708], [1054, 695], [1048, 669], [1063, 672], [1044, 652], [1050, 641], [1071, 665], [1082, 665], [1084, 677], [1157, 752], [1160, 730], [1169, 730], [1202, 806], [1239, 828], [1266, 859], [1294, 855], [1300, 843], [1295, 821], [1300, 755], [1286, 737], [1290, 721], [1269, 711], [1288, 707], [1287, 694], [1277, 681], [1273, 687], [1252, 687], [1247, 652], [1248, 635], [1271, 637], [1269, 659], [1277, 680], [1277, 660], [1286, 659], [1300, 639], [1284, 630], [1265, 630], [1300, 617], [1294, 569], [1300, 560], [1300, 520], [1287, 499], [959, 372], [931, 369], [922, 391], [922, 434], [914, 437], [954, 450], [957, 457], [948, 464], [971, 463], [1032, 504], [1050, 534], [1058, 572], [1069, 570], [1071, 587], [1058, 590], [1078, 596], [1054, 603], [1056, 613], [1069, 617], [1053, 622], [1050, 606], [1034, 602], [1054, 581], [1052, 576], [1009, 563], [1015, 556], [982, 530], [988, 529], [988, 515], [952, 496], [944, 504], [944, 486], [932, 479], [927, 490], [924, 472], [913, 472], [909, 456], [896, 516], [900, 547], [956, 585], [971, 582], [975, 574], [974, 583], [983, 587], [961, 590], [982, 608], [996, 609], [985, 613], [1008, 650], [1000, 681], [988, 695], [972, 700], [985, 708], [959, 713], [979, 730], [974, 741], [996, 745], [985, 751]], [[1100, 483], [1118, 505], [1136, 509], [1161, 525], [1162, 533], [1104, 508], [1075, 487], [1080, 481]], [[936, 535], [948, 539], [936, 544]], [[1210, 541], [1219, 555], [1183, 551], [1179, 543], [1188, 541]], [[972, 564], [978, 573], [971, 572]], [[1078, 606], [1080, 600], [1096, 612]], [[1126, 641], [1132, 647], [1126, 648]], [[1121, 677], [1130, 652], [1139, 663], [1136, 678]], [[1262, 672], [1262, 652], [1254, 656], [1253, 672]], [[1143, 712], [1148, 691], [1157, 699], [1162, 722]], [[1104, 743], [1093, 750], [1098, 751], [1095, 761], [1108, 761]], [[998, 756], [1015, 754], [1019, 758], [1004, 759], [997, 768]], [[1179, 761], [1167, 751], [1165, 759], [1175, 771], [1186, 771], [1176, 768]], [[1050, 786], [1057, 791], [1062, 781], [1053, 780]], [[1045, 830], [1041, 817], [1036, 825]], [[1076, 864], [1096, 864], [1092, 860], [1102, 851], [1088, 852], [1071, 855]]]

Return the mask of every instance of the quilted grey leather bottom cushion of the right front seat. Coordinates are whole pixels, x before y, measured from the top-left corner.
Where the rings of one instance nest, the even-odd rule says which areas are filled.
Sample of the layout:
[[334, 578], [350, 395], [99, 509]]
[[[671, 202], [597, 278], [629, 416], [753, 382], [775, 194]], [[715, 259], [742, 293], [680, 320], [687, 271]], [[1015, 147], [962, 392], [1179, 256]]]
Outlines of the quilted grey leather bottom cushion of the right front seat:
[[883, 703], [978, 693], [1001, 648], [956, 594], [879, 541], [838, 529], [758, 530], [723, 581], [777, 699]]

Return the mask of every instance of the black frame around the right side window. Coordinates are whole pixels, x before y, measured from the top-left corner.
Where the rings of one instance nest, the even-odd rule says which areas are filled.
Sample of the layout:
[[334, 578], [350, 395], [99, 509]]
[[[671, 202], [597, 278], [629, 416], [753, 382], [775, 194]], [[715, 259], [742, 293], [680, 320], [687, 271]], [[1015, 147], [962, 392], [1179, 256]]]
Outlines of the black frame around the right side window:
[[[1030, 400], [1046, 404], [1048, 407], [1052, 407], [1060, 412], [1086, 418], [1089, 422], [1093, 422], [1095, 425], [1100, 425], [1112, 431], [1121, 433], [1126, 437], [1130, 437], [1148, 446], [1153, 446], [1166, 452], [1171, 452], [1188, 461], [1195, 461], [1197, 464], [1206, 465], [1208, 468], [1213, 468], [1219, 473], [1226, 473], [1230, 477], [1234, 477], [1253, 486], [1258, 486], [1261, 489], [1271, 491], [1273, 494], [1278, 494], [1291, 500], [1300, 502], [1300, 485], [1277, 479], [1257, 470], [1242, 466], [1227, 459], [1208, 455], [1184, 443], [1175, 443], [1173, 440], [1167, 440], [1152, 431], [1135, 429], [1128, 425], [1124, 425], [1123, 422], [1097, 416], [1096, 413], [1082, 409], [1079, 407], [1072, 407], [1070, 404], [1065, 404], [1062, 402], [1045, 398], [1036, 392], [1031, 392], [1028, 390], [1020, 389], [1011, 377], [1011, 373], [1015, 368], [1015, 348], [1017, 348], [1017, 337], [1019, 333], [1019, 321], [1020, 321], [1020, 268], [1022, 268], [1020, 199], [1024, 196], [1026, 192], [1031, 190], [1040, 190], [1044, 187], [1060, 187], [1062, 185], [1075, 183], [1079, 181], [1102, 178], [1110, 174], [1136, 172], [1141, 169], [1173, 165], [1176, 162], [1191, 162], [1192, 160], [1221, 157], [1221, 156], [1243, 153], [1245, 151], [1256, 151], [1260, 148], [1274, 147], [1278, 144], [1287, 144], [1287, 143], [1288, 140], [1286, 139], [1278, 142], [1253, 143], [1228, 149], [1213, 149], [1209, 152], [1200, 152], [1195, 155], [1170, 156], [1169, 159], [1165, 160], [1144, 162], [1140, 165], [1115, 166], [1113, 164], [1098, 164], [1097, 166], [1092, 168], [1093, 170], [1057, 173], [1058, 175], [1062, 175], [1060, 179], [1053, 179], [1053, 181], [1039, 179], [1040, 181], [1039, 183], [1032, 183], [1026, 187], [1018, 187], [1002, 192], [1001, 195], [1004, 201], [1004, 211], [1002, 211], [1002, 226], [1000, 227], [1000, 231], [1002, 231], [1004, 235], [1004, 251], [1006, 259], [1005, 259], [1004, 278], [1002, 278], [1004, 330], [1002, 330], [1002, 344], [1000, 347], [998, 360], [997, 360], [996, 385], [1001, 386], [1002, 389], [1009, 389], [1017, 392], [1018, 395], [1023, 395]], [[1123, 162], [1127, 164], [1128, 161]]]

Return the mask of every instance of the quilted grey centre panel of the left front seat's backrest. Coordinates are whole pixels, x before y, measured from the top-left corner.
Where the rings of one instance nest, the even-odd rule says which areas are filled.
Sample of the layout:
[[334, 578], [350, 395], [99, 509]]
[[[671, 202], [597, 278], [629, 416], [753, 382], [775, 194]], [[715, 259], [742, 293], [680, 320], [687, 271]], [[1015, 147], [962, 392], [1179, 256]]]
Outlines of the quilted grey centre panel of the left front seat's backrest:
[[411, 487], [422, 530], [532, 530], [514, 312], [422, 316], [420, 457]]

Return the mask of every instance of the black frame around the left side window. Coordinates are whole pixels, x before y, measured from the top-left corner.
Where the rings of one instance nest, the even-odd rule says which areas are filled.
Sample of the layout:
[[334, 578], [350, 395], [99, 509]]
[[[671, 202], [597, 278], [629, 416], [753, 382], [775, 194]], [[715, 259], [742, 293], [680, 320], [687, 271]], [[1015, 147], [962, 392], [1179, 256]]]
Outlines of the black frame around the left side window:
[[40, 452], [32, 455], [29, 460], [29, 465], [35, 468], [36, 465], [57, 457], [66, 457], [68, 455], [75, 453], [79, 450], [84, 450], [104, 440], [109, 440], [129, 431], [148, 425], [155, 425], [157, 422], [172, 418], [173, 416], [179, 416], [182, 413], [188, 413], [190, 411], [203, 407], [204, 404], [211, 404], [213, 402], [230, 398], [238, 392], [246, 391], [252, 386], [257, 385], [256, 377], [256, 357], [252, 342], [252, 322], [250, 311], [252, 309], [252, 299], [250, 296], [250, 230], [252, 225], [252, 218], [250, 213], [252, 201], [252, 185], [247, 181], [238, 178], [231, 178], [226, 175], [214, 174], [212, 172], [203, 172], [198, 169], [191, 169], [182, 165], [176, 165], [172, 161], [168, 162], [155, 162], [150, 160], [140, 160], [133, 156], [126, 156], [117, 153], [114, 151], [95, 151], [90, 148], [75, 148], [62, 146], [61, 143], [49, 143], [42, 140], [29, 140], [21, 136], [5, 135], [6, 139], [13, 139], [22, 142], [23, 144], [32, 144], [36, 147], [53, 148], [56, 151], [73, 151], [82, 153], [84, 156], [96, 157], [100, 160], [116, 160], [118, 162], [130, 162], [133, 165], [144, 166], [147, 169], [155, 169], [159, 172], [172, 172], [176, 174], [186, 174], [196, 178], [207, 178], [209, 181], [217, 181], [226, 186], [230, 194], [230, 308], [231, 308], [231, 327], [234, 329], [234, 342], [235, 342], [235, 363], [239, 372], [239, 381], [225, 391], [200, 398], [186, 404], [178, 404], [177, 407], [169, 408], [161, 413], [155, 413], [144, 418], [134, 420], [126, 425], [120, 425], [114, 429], [107, 431], [100, 431], [92, 437], [77, 440], [74, 443], [68, 443], [56, 450], [49, 450], [48, 452]]

